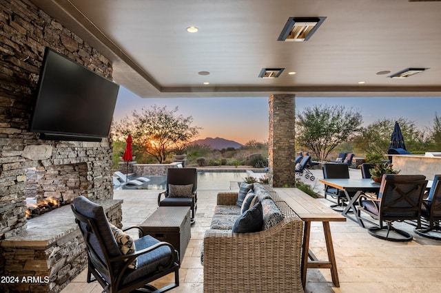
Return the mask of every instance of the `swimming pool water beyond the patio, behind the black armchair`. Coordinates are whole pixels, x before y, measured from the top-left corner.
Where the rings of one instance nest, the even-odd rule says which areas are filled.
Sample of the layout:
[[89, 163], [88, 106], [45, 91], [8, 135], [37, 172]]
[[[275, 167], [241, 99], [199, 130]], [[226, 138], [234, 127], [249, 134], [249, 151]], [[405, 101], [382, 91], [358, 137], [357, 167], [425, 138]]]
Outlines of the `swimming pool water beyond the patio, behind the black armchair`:
[[[136, 179], [137, 176], [130, 176], [129, 179]], [[146, 176], [150, 182], [143, 185], [125, 185], [121, 189], [148, 189], [148, 190], [165, 190], [167, 184], [166, 176]], [[243, 171], [198, 171], [198, 190], [229, 190], [230, 182], [242, 182], [247, 177], [247, 172]]]

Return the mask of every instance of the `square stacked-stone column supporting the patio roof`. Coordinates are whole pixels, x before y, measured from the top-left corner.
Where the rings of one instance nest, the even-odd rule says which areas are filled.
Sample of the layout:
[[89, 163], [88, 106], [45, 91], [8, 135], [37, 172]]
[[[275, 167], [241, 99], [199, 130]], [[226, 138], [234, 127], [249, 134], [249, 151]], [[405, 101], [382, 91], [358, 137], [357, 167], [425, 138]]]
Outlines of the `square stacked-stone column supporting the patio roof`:
[[274, 187], [294, 185], [296, 95], [269, 97], [269, 178]]

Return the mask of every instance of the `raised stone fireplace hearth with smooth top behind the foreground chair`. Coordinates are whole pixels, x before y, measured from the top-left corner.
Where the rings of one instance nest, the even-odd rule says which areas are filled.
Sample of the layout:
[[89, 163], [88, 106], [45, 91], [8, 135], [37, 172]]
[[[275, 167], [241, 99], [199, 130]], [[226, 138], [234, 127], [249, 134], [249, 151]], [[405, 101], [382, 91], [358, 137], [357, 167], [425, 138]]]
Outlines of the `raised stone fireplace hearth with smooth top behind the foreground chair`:
[[[112, 224], [122, 227], [123, 200], [96, 200]], [[62, 224], [61, 224], [62, 223]], [[83, 235], [68, 206], [28, 221], [28, 228], [1, 241], [5, 276], [1, 292], [60, 292], [88, 264]]]

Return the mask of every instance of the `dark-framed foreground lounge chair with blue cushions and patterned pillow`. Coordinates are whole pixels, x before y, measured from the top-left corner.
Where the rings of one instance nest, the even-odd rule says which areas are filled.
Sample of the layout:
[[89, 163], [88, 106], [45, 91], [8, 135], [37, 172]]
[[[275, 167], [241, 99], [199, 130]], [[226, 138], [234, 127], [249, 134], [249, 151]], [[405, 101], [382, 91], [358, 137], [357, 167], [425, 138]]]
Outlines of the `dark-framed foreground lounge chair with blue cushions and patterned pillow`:
[[[103, 207], [83, 196], [74, 199], [72, 212], [88, 253], [88, 283], [96, 280], [103, 292], [113, 293], [165, 292], [178, 287], [178, 252], [170, 243], [143, 236], [139, 226], [124, 230], [111, 226]], [[139, 239], [124, 232], [130, 228], [139, 230]], [[160, 281], [164, 287], [159, 289], [149, 284], [168, 274], [174, 274], [174, 282], [172, 278]]]

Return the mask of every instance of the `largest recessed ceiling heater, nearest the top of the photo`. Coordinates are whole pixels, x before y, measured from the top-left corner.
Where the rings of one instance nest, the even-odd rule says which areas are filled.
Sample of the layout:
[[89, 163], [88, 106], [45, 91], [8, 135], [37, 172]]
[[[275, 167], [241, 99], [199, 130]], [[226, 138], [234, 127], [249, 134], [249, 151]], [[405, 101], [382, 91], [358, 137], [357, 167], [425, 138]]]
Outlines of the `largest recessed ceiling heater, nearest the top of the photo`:
[[277, 41], [308, 41], [326, 17], [289, 17]]

